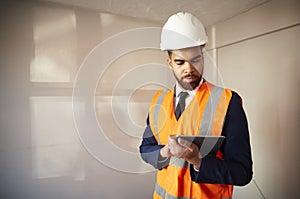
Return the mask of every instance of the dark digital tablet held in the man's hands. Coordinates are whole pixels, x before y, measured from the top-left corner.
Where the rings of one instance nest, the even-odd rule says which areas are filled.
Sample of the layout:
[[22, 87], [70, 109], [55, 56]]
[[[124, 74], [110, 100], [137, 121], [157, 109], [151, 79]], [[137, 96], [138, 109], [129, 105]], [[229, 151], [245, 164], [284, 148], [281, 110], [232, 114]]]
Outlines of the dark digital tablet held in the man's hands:
[[177, 135], [176, 139], [184, 138], [193, 142], [199, 147], [202, 157], [213, 156], [215, 157], [219, 148], [221, 147], [225, 136], [190, 136], [190, 135]]

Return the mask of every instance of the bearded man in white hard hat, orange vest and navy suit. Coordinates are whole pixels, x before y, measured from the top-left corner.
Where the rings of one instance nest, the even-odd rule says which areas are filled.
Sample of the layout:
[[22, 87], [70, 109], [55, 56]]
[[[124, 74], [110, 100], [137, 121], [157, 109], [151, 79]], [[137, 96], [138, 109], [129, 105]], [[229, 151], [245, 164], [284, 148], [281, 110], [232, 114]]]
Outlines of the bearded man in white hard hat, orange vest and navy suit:
[[[202, 49], [207, 36], [190, 13], [171, 16], [163, 27], [161, 49], [176, 85], [153, 98], [140, 146], [157, 179], [153, 198], [232, 198], [233, 185], [252, 179], [246, 115], [239, 95], [203, 79]], [[225, 136], [216, 156], [176, 135]]]

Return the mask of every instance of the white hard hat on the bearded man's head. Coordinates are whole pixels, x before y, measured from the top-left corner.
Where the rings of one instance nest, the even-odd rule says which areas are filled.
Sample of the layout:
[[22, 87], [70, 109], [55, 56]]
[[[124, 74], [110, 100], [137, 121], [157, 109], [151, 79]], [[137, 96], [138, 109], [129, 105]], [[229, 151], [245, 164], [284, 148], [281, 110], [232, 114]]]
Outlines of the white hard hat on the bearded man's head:
[[203, 24], [187, 12], [172, 15], [162, 28], [161, 50], [176, 50], [206, 44]]

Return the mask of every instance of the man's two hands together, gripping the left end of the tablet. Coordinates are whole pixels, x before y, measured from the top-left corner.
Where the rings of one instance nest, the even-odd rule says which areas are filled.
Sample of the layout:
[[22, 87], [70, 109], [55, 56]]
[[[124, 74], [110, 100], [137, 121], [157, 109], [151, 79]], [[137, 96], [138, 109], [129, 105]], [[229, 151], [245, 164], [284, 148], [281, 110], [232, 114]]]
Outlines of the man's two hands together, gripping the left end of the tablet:
[[174, 156], [182, 158], [190, 164], [193, 164], [196, 169], [199, 169], [201, 165], [201, 156], [198, 146], [183, 138], [178, 138], [177, 142], [175, 135], [169, 136], [168, 144], [160, 150], [160, 154], [162, 157]]

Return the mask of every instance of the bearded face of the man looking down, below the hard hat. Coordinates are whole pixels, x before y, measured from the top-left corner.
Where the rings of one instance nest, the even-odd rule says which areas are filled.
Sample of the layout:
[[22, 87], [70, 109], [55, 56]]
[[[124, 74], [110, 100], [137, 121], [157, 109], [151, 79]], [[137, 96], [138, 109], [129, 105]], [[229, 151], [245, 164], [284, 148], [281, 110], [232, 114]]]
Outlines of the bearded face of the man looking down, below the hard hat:
[[203, 54], [199, 46], [173, 50], [168, 64], [183, 89], [193, 90], [199, 85], [203, 73]]

